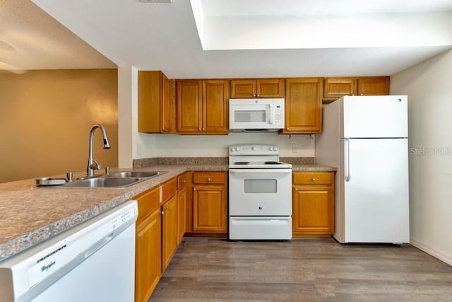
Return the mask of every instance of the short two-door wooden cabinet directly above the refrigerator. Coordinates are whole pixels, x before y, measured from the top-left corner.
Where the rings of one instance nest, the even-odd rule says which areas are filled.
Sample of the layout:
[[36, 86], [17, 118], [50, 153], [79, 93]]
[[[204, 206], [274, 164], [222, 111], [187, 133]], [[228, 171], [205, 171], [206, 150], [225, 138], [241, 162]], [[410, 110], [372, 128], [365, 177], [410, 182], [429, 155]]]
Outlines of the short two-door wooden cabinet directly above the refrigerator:
[[323, 79], [323, 100], [336, 100], [344, 95], [388, 95], [388, 94], [389, 94], [388, 76]]

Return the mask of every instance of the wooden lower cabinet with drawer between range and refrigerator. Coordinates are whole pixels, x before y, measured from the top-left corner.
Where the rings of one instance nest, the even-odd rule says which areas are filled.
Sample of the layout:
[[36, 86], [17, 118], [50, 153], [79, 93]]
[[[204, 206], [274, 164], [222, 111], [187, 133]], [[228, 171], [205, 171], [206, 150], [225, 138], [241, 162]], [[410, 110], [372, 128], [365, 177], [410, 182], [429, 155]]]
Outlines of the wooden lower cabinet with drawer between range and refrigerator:
[[294, 172], [292, 236], [326, 238], [334, 232], [334, 172]]

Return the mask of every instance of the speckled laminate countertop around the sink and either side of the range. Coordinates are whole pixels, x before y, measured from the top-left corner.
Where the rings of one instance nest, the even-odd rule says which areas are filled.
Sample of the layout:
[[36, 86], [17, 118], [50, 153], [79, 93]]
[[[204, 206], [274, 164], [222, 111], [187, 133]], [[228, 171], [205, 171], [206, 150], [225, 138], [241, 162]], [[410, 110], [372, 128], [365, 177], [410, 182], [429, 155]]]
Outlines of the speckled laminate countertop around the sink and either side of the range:
[[[296, 164], [292, 168], [294, 171], [335, 170], [325, 165], [308, 164]], [[0, 261], [116, 207], [186, 170], [227, 169], [227, 164], [134, 168], [167, 173], [121, 188], [36, 187], [34, 179], [0, 184]]]

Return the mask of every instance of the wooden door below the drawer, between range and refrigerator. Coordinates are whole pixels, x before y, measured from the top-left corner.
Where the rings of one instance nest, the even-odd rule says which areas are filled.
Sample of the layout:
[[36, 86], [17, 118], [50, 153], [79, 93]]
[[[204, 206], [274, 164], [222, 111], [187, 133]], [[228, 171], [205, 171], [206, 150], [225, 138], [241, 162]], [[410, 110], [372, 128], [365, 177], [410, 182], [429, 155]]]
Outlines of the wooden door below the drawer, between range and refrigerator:
[[292, 197], [294, 233], [333, 233], [333, 187], [296, 185]]

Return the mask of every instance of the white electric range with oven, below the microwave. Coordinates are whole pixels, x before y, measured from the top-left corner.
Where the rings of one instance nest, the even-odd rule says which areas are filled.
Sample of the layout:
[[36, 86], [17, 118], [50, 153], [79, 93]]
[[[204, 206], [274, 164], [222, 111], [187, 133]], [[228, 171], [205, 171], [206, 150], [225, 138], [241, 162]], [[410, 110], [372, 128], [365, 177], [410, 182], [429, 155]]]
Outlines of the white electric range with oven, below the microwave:
[[292, 165], [278, 146], [229, 147], [229, 239], [292, 239]]

